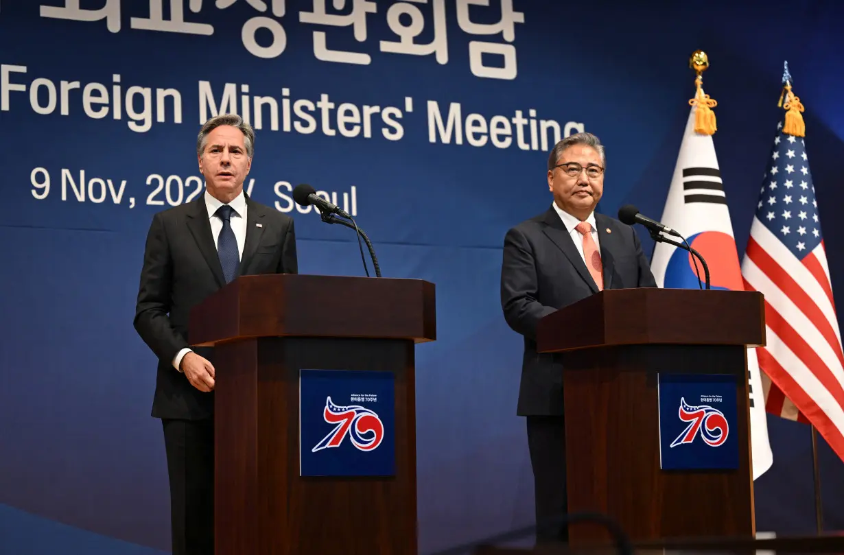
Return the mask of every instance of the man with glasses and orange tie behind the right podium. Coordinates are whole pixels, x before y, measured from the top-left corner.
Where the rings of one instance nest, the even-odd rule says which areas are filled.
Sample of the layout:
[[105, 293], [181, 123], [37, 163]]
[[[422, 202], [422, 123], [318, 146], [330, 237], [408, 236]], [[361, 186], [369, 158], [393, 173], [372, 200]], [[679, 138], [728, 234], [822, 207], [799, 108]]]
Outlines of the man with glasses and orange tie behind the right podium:
[[[562, 366], [558, 356], [536, 352], [538, 321], [604, 288], [657, 287], [635, 231], [594, 213], [605, 167], [598, 137], [577, 133], [561, 140], [548, 160], [551, 207], [504, 240], [501, 308], [524, 337], [517, 414], [527, 417], [537, 522], [564, 514], [567, 505]], [[565, 526], [559, 536], [554, 529], [537, 531], [539, 543], [566, 539]]]

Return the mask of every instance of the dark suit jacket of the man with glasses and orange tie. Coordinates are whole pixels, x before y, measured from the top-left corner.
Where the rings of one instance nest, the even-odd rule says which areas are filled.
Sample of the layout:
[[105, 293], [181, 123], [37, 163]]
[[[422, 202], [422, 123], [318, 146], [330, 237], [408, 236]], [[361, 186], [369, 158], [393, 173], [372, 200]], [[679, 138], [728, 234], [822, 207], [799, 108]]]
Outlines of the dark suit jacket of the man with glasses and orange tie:
[[[603, 214], [595, 214], [595, 223], [603, 261], [603, 288], [657, 287], [636, 232]], [[501, 265], [501, 308], [507, 324], [524, 336], [517, 414], [563, 414], [560, 357], [536, 352], [537, 322], [596, 293], [595, 281], [554, 207], [507, 232]]]

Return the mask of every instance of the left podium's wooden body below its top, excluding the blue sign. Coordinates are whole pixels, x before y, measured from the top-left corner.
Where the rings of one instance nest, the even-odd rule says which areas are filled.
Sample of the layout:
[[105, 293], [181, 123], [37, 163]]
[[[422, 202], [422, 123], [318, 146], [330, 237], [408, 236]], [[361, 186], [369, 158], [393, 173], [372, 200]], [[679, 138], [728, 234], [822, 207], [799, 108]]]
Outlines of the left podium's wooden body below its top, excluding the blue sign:
[[[215, 411], [217, 555], [414, 555], [414, 342], [266, 337], [216, 349], [226, 353]], [[300, 369], [395, 374], [394, 477], [300, 477]]]

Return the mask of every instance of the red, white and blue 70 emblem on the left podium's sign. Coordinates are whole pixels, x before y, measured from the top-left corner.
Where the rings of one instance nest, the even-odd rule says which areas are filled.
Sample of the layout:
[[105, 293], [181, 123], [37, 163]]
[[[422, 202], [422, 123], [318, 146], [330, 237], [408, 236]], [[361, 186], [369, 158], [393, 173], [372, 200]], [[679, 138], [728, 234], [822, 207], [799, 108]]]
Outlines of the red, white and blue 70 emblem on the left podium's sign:
[[370, 408], [360, 405], [349, 405], [340, 407], [331, 401], [328, 396], [325, 399], [325, 410], [322, 418], [329, 424], [336, 424], [334, 429], [328, 432], [317, 445], [311, 449], [316, 453], [318, 450], [330, 447], [339, 447], [346, 437], [352, 445], [361, 451], [371, 451], [381, 445], [384, 439], [384, 423], [378, 414]]

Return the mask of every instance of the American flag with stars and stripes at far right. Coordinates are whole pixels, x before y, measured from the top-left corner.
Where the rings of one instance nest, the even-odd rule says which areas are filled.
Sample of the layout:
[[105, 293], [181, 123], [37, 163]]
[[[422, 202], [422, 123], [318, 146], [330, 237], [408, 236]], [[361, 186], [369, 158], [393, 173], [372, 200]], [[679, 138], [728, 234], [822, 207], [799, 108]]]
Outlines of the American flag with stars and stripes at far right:
[[818, 201], [805, 141], [782, 121], [769, 161], [742, 262], [744, 287], [765, 295], [766, 410], [812, 423], [844, 459], [844, 355]]

